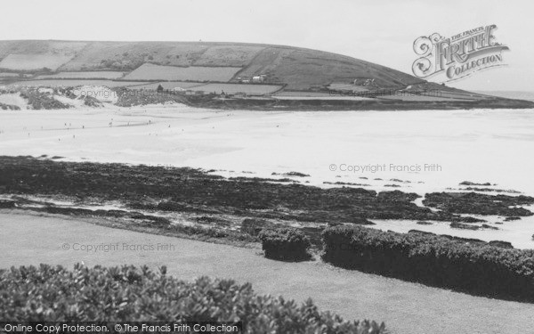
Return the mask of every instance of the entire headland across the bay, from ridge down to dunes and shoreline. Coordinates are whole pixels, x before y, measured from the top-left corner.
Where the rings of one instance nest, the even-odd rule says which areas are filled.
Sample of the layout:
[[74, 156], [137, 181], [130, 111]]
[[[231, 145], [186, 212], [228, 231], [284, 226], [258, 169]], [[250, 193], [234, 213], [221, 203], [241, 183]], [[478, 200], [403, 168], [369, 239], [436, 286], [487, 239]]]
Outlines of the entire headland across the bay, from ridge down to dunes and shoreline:
[[[291, 46], [0, 41], [0, 108], [56, 108], [55, 97], [36, 98], [26, 89], [63, 87], [72, 92], [80, 86], [111, 88], [120, 106], [172, 101], [260, 110], [534, 108], [532, 102], [465, 92], [372, 62]], [[156, 94], [158, 87], [171, 96], [146, 96]], [[64, 93], [55, 91], [54, 96]], [[28, 100], [30, 95], [34, 98]]]

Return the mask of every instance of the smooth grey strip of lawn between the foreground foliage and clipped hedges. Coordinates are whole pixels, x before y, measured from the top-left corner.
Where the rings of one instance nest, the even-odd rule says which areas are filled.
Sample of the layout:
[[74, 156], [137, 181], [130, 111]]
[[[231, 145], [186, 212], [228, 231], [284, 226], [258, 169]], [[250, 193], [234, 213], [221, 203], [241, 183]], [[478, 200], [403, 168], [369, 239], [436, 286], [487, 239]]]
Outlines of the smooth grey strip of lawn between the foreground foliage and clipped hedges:
[[[89, 224], [93, 223], [93, 224]], [[320, 261], [285, 263], [262, 257], [258, 248], [183, 240], [111, 229], [60, 216], [0, 214], [0, 267], [12, 265], [149, 265], [191, 280], [201, 275], [249, 281], [258, 293], [300, 302], [312, 297], [321, 309], [345, 319], [386, 322], [396, 334], [526, 333], [534, 329], [534, 305], [473, 297], [445, 289], [338, 269]], [[172, 245], [153, 251], [82, 251], [74, 244]], [[64, 244], [69, 245], [68, 250]], [[121, 246], [122, 248], [122, 246]]]

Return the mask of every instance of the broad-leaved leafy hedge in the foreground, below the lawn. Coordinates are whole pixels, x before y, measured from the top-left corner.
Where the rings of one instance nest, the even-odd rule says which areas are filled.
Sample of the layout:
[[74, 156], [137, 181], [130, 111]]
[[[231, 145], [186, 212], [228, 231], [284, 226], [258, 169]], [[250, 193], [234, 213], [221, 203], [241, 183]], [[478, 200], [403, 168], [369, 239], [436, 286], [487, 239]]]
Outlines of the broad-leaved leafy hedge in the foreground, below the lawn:
[[146, 266], [12, 267], [0, 271], [4, 322], [243, 322], [245, 333], [383, 334], [384, 324], [346, 322], [308, 300], [258, 296], [250, 284], [179, 281]]

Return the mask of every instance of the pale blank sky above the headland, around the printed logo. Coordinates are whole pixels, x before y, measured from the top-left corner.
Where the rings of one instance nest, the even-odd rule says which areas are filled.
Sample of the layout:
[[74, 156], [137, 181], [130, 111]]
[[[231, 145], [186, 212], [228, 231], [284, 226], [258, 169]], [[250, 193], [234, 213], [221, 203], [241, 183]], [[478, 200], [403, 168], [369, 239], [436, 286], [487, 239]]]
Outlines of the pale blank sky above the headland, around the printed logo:
[[[534, 91], [529, 0], [0, 0], [0, 40], [214, 41], [342, 53], [412, 73], [413, 43], [496, 24], [506, 67], [449, 86]], [[432, 81], [432, 78], [430, 79]]]

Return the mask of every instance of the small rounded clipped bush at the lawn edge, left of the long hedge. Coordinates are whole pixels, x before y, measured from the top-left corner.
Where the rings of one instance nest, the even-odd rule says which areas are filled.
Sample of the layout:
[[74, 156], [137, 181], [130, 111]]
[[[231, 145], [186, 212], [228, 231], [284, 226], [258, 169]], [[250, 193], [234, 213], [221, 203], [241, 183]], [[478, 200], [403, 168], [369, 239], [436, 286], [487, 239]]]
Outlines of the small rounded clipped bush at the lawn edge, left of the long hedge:
[[265, 257], [285, 261], [298, 261], [310, 258], [307, 249], [310, 240], [299, 230], [280, 228], [263, 230], [259, 235]]

